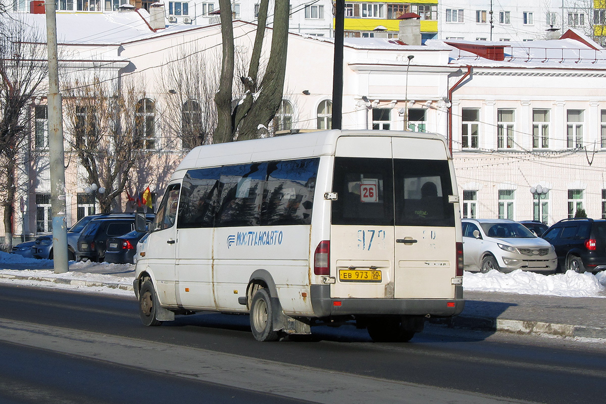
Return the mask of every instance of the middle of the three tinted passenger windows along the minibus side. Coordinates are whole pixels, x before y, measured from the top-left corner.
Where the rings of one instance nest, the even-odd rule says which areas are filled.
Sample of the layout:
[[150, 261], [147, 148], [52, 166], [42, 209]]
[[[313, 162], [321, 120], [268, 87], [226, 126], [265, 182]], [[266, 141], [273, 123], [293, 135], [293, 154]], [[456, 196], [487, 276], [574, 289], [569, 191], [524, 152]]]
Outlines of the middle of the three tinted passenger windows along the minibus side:
[[266, 172], [267, 163], [222, 167], [216, 227], [259, 225]]

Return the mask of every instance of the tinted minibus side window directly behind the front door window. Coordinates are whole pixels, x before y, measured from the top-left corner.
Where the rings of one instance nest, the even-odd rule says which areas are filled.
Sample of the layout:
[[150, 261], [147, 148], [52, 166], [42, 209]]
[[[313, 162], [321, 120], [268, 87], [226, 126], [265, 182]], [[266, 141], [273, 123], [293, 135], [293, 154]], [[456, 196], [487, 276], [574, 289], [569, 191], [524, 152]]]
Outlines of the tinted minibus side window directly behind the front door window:
[[220, 178], [221, 167], [187, 171], [181, 187], [178, 228], [215, 225]]

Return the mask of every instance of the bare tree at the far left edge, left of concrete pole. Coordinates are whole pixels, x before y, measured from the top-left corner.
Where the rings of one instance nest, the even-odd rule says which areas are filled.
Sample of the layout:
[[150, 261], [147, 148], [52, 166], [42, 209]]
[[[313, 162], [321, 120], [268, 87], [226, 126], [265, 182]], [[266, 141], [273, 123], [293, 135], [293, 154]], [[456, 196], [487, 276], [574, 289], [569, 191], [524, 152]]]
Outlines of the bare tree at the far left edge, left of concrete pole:
[[30, 104], [47, 92], [46, 48], [38, 31], [19, 19], [0, 24], [0, 206], [4, 233], [12, 247], [18, 157], [29, 147]]

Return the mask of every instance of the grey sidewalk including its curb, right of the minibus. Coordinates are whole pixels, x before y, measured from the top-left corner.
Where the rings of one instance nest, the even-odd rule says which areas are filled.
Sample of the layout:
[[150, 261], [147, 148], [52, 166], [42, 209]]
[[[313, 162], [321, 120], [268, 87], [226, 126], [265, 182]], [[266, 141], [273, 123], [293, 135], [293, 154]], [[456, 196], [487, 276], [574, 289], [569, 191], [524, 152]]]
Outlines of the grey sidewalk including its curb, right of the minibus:
[[606, 339], [606, 299], [465, 291], [465, 309], [432, 322], [458, 328]]

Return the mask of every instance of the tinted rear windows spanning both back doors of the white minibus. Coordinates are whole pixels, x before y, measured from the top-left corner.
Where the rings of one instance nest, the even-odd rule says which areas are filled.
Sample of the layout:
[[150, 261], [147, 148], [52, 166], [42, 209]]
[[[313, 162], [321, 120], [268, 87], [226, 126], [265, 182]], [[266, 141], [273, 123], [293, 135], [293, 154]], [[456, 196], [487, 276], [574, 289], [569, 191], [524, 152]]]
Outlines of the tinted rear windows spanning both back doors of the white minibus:
[[336, 157], [335, 225], [454, 226], [447, 161]]

